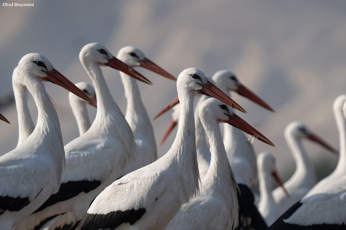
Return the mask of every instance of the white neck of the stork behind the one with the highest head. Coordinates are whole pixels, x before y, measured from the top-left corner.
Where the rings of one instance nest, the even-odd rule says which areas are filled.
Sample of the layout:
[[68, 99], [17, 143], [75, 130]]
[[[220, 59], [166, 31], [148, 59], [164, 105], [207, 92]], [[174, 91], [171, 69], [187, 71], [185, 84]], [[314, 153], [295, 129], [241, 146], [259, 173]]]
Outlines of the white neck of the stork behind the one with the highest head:
[[137, 80], [123, 72], [120, 72], [120, 77], [124, 84], [125, 97], [127, 99], [125, 118], [131, 130], [134, 134], [141, 132], [145, 135], [153, 136], [153, 127], [140, 97]]

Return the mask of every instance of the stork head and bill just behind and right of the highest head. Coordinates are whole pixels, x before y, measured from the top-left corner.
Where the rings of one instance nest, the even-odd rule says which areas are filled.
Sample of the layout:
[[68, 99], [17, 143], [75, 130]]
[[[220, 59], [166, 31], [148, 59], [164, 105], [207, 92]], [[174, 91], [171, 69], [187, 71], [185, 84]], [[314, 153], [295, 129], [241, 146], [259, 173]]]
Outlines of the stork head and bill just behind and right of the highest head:
[[145, 69], [151, 70], [157, 74], [160, 74], [163, 77], [176, 81], [176, 78], [172, 74], [168, 73], [160, 66], [158, 66], [156, 63], [146, 58], [142, 50], [136, 47], [126, 46], [124, 48], [121, 48], [119, 50], [117, 58], [131, 67], [140, 66]]

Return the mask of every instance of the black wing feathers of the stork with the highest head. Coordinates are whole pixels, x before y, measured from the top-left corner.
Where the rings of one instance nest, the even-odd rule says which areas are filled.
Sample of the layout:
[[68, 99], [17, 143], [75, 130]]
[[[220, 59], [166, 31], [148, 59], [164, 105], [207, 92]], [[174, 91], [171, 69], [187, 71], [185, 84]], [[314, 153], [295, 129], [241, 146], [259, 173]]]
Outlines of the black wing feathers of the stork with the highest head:
[[94, 190], [95, 188], [99, 187], [100, 184], [101, 181], [99, 180], [69, 181], [67, 183], [62, 183], [60, 185], [59, 191], [55, 194], [52, 194], [52, 196], [49, 197], [48, 200], [46, 200], [46, 202], [44, 202], [42, 206], [39, 207], [35, 212], [42, 211], [43, 209], [47, 208], [48, 206], [52, 206], [57, 202], [61, 202], [75, 197], [81, 192], [88, 193], [91, 190]]

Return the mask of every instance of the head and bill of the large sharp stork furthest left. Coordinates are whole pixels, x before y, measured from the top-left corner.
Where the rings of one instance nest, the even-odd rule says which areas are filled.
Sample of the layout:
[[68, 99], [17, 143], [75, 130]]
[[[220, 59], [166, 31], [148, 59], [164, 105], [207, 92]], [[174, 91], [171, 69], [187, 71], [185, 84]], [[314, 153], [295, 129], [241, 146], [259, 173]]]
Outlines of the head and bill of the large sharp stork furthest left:
[[85, 95], [78, 87], [76, 87], [70, 80], [64, 77], [60, 72], [54, 69], [52, 63], [42, 54], [29, 53], [26, 54], [18, 63], [18, 72], [24, 82], [32, 85], [31, 82], [42, 80], [55, 83], [70, 92], [76, 94], [78, 97], [93, 104], [93, 101]]

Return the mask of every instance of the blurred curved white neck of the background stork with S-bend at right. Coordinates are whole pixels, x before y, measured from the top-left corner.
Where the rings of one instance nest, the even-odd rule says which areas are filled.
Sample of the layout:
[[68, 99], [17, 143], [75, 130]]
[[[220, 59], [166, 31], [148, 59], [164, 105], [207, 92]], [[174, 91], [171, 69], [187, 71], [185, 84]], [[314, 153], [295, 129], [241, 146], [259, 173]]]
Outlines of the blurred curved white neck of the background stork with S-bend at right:
[[285, 139], [296, 164], [295, 172], [291, 178], [298, 177], [299, 180], [308, 180], [310, 183], [315, 184], [317, 180], [315, 170], [301, 139], [291, 133], [285, 133]]

